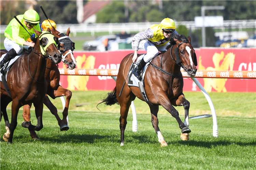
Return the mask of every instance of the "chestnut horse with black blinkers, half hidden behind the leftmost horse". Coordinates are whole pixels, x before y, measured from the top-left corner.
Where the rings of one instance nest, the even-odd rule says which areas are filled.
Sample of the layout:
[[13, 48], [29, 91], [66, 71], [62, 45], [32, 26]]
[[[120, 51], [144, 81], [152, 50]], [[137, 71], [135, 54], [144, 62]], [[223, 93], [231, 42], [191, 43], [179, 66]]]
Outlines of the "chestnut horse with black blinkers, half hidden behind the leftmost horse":
[[[59, 35], [60, 32], [56, 31], [53, 29], [52, 31], [53, 35]], [[68, 28], [67, 33], [63, 34], [61, 33], [60, 38], [66, 38], [66, 41], [64, 41], [64, 44], [59, 44], [59, 50], [62, 54], [62, 62], [67, 64], [69, 69], [74, 69], [76, 67], [76, 61], [73, 55], [73, 43], [69, 39], [69, 34], [70, 34], [70, 29]], [[59, 39], [60, 39], [59, 38]], [[72, 46], [71, 46], [72, 44]], [[69, 102], [72, 96], [72, 92], [68, 89], [65, 89], [60, 86], [59, 81], [60, 81], [60, 73], [57, 65], [51, 60], [47, 59], [46, 62], [46, 70], [45, 70], [45, 79], [46, 79], [46, 85], [47, 85], [47, 92], [44, 97], [43, 103], [46, 105], [46, 107], [51, 111], [51, 113], [56, 117], [58, 124], [60, 126], [60, 131], [67, 131], [69, 129], [68, 127], [68, 121], [67, 121], [67, 116], [68, 116], [68, 109], [69, 109]], [[61, 96], [66, 96], [66, 104], [65, 104], [65, 109], [62, 112], [63, 119], [61, 120], [57, 108], [53, 105], [53, 103], [50, 101], [49, 97], [50, 96], [52, 99], [55, 99], [57, 97]], [[31, 104], [24, 105], [23, 106], [23, 118], [25, 121], [30, 121], [30, 108]], [[39, 139], [35, 131], [29, 131], [30, 136], [33, 139]]]

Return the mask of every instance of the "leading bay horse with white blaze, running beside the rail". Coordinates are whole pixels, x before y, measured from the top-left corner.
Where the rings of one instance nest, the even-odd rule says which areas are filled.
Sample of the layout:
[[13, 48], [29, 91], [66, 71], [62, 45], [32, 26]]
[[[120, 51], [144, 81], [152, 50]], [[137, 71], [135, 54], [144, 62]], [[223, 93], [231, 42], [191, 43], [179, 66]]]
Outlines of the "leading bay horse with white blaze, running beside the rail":
[[[170, 46], [167, 47], [167, 51], [164, 54], [156, 56], [152, 60], [152, 64], [158, 66], [158, 68], [170, 74], [163, 73], [156, 69], [152, 65], [149, 65], [144, 78], [145, 90], [149, 101], [153, 104], [148, 104], [151, 111], [151, 122], [153, 128], [158, 136], [158, 141], [161, 146], [167, 146], [167, 142], [163, 138], [159, 127], [157, 113], [159, 105], [162, 105], [179, 123], [181, 129], [181, 139], [188, 140], [188, 133], [191, 132], [188, 129], [188, 111], [190, 103], [185, 99], [183, 94], [183, 77], [181, 74], [181, 67], [188, 73], [189, 77], [195, 77], [196, 74], [196, 54], [195, 50], [190, 44], [191, 38], [188, 39], [184, 35], [174, 35], [171, 37]], [[171, 47], [171, 48], [170, 48]], [[124, 145], [124, 132], [127, 124], [127, 115], [131, 101], [136, 97], [143, 100], [141, 92], [138, 87], [127, 86], [126, 77], [129, 72], [129, 68], [132, 64], [132, 54], [128, 54], [124, 57], [120, 63], [119, 72], [116, 79], [116, 87], [108, 96], [102, 100], [101, 103], [106, 105], [112, 105], [115, 103], [120, 104], [120, 131], [121, 131], [121, 146]], [[173, 59], [172, 59], [173, 57]], [[180, 59], [179, 59], [180, 58]], [[178, 65], [179, 64], [179, 65]], [[124, 82], [122, 94], [118, 97]], [[183, 106], [185, 109], [185, 124], [181, 121], [178, 111], [173, 106]], [[185, 136], [184, 136], [185, 135]]]

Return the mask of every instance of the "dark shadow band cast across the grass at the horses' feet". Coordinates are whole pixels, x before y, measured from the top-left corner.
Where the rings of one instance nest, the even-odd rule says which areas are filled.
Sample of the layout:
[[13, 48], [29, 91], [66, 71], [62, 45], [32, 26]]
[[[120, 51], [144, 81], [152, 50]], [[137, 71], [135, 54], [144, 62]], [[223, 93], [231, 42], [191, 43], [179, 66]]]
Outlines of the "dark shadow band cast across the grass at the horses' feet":
[[[90, 131], [90, 130], [89, 130]], [[95, 132], [95, 129], [91, 132]], [[46, 135], [42, 135], [40, 137], [41, 142], [48, 143], [97, 143], [97, 142], [116, 142], [120, 143], [119, 131], [111, 132], [112, 135], [98, 135], [98, 134], [55, 134], [55, 136], [48, 137]], [[118, 135], [116, 135], [118, 134]], [[169, 135], [168, 135], [169, 136]], [[248, 141], [248, 142], [240, 142], [240, 141], [227, 141], [226, 139], [220, 139], [218, 141], [199, 141], [194, 139], [189, 139], [188, 141], [182, 141], [181, 139], [176, 139], [179, 137], [176, 134], [171, 134], [170, 136], [175, 136], [172, 138], [166, 138], [168, 145], [175, 146], [196, 146], [196, 147], [204, 147], [204, 148], [212, 148], [217, 146], [230, 146], [230, 145], [238, 145], [238, 146], [255, 146], [256, 141]], [[16, 140], [23, 140], [25, 138], [24, 134], [20, 134], [15, 137]], [[211, 137], [213, 138], [213, 137]], [[212, 139], [209, 139], [212, 140]], [[28, 141], [24, 141], [25, 143]], [[125, 143], [151, 143], [151, 144], [160, 144], [158, 142], [157, 136], [149, 133], [148, 135], [133, 133], [130, 132], [127, 134], [127, 138]]]

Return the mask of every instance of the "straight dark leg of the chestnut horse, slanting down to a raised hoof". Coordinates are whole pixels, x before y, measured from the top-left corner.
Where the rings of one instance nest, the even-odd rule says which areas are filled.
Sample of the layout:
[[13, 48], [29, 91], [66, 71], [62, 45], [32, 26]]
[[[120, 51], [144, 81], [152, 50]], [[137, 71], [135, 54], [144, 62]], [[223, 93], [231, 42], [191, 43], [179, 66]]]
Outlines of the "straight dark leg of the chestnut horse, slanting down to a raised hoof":
[[56, 117], [58, 124], [60, 126], [60, 131], [68, 130], [69, 127], [67, 124], [65, 124], [59, 117], [57, 108], [53, 105], [53, 103], [50, 101], [48, 96], [46, 95], [43, 100], [46, 107], [51, 111], [51, 113]]

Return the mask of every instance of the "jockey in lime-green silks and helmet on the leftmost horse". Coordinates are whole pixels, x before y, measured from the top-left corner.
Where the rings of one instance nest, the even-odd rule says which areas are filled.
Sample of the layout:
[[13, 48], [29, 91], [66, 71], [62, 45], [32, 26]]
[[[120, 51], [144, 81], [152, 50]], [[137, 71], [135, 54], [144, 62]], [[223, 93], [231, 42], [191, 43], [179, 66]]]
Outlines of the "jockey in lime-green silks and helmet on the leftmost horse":
[[[19, 24], [19, 22], [13, 18], [4, 31], [4, 47], [8, 53], [4, 56], [3, 60], [0, 62], [0, 69], [3, 65], [9, 61], [12, 57], [21, 53], [24, 46], [34, 47], [35, 43], [33, 41], [26, 41], [30, 35], [34, 34], [34, 29], [41, 31], [39, 26], [39, 15], [34, 10], [28, 10], [24, 15], [18, 15], [17, 19], [23, 24], [24, 28]], [[26, 31], [26, 30], [30, 33]], [[35, 34], [35, 37], [38, 37]]]

